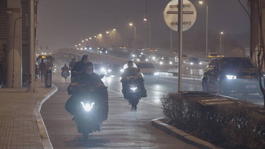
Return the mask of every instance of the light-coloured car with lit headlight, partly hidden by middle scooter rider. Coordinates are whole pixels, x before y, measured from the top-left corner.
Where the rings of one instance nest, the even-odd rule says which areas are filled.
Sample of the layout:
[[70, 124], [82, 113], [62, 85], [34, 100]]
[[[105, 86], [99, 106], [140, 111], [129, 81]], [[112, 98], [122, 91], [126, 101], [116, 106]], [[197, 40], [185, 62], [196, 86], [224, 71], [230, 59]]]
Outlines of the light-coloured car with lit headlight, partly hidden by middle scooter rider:
[[137, 68], [140, 69], [140, 72], [143, 74], [145, 80], [158, 80], [159, 72], [157, 72], [155, 65], [150, 62], [138, 62], [135, 63]]

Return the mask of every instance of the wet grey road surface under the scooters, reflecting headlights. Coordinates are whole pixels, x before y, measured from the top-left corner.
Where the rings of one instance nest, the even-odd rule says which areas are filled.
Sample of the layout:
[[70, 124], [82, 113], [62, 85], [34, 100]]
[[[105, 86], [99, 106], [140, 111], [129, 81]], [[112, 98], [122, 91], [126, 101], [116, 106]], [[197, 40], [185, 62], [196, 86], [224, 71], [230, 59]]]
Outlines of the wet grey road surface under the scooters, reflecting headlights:
[[[48, 130], [54, 149], [197, 149], [153, 127], [151, 120], [163, 117], [160, 97], [167, 92], [176, 91], [176, 83], [145, 82], [148, 98], [141, 99], [137, 111], [120, 92], [120, 77], [104, 78], [109, 87], [109, 115], [102, 124], [101, 132], [90, 135], [87, 142], [77, 132], [72, 116], [64, 109], [69, 98], [67, 86], [59, 75], [54, 75], [58, 92], [44, 103], [41, 115]], [[188, 83], [188, 82], [185, 82]], [[189, 88], [190, 86], [186, 86]]]

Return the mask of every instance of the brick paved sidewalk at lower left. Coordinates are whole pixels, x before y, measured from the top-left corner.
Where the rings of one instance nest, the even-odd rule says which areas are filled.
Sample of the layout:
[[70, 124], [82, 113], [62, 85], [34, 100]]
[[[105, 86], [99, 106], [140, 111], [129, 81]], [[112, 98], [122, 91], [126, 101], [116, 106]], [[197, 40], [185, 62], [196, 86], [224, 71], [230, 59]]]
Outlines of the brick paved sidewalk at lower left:
[[56, 91], [57, 87], [46, 89], [44, 82], [36, 81], [35, 93], [0, 92], [0, 149], [49, 148], [42, 139], [47, 134], [39, 106]]

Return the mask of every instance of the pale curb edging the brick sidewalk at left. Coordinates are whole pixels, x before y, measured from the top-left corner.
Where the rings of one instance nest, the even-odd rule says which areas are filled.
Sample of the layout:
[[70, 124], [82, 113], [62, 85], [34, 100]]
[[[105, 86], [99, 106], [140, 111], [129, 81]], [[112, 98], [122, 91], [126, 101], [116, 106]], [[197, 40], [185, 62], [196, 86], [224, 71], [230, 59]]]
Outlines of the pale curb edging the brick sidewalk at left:
[[34, 108], [34, 114], [35, 114], [35, 118], [36, 118], [37, 125], [38, 125], [38, 128], [39, 128], [39, 134], [40, 134], [40, 139], [41, 139], [41, 142], [42, 142], [43, 149], [53, 149], [53, 146], [52, 146], [52, 143], [50, 141], [50, 138], [49, 138], [48, 132], [46, 130], [46, 127], [44, 125], [44, 122], [42, 120], [40, 111], [41, 111], [41, 108], [42, 108], [42, 104], [47, 99], [49, 99], [51, 96], [53, 96], [53, 94], [56, 93], [57, 91], [58, 91], [58, 88], [53, 85], [52, 91], [47, 93], [46, 95], [44, 95], [43, 99], [39, 99], [37, 104], [36, 104], [36, 106], [35, 106], [35, 108]]

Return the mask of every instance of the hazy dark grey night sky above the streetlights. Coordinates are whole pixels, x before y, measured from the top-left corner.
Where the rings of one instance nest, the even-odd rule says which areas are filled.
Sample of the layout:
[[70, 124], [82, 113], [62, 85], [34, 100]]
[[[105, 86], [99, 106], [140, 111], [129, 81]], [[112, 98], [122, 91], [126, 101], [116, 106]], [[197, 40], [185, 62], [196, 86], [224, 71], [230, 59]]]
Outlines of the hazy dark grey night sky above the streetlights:
[[[169, 41], [170, 29], [163, 10], [170, 0], [147, 0], [153, 42]], [[206, 6], [190, 0], [196, 7], [197, 20], [184, 35], [205, 32]], [[246, 5], [246, 0], [241, 0]], [[209, 32], [224, 31], [242, 46], [248, 46], [249, 18], [238, 0], [208, 0]], [[123, 37], [132, 34], [129, 22], [136, 24], [138, 36], [145, 34], [145, 0], [40, 0], [38, 3], [37, 40], [39, 46], [52, 50], [74, 47], [80, 40], [116, 28]], [[174, 47], [178, 33], [174, 31]], [[194, 40], [194, 39], [193, 39]], [[117, 45], [119, 46], [119, 45]]]

